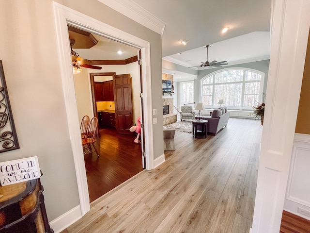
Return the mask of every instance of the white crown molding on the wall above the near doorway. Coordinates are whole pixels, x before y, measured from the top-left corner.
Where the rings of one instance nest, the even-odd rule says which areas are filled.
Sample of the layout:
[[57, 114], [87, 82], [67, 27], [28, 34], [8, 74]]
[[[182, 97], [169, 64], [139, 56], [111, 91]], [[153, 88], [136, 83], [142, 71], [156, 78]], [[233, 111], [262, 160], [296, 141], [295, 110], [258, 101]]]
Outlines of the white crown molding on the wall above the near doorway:
[[158, 34], [162, 35], [164, 33], [166, 24], [132, 0], [98, 1]]

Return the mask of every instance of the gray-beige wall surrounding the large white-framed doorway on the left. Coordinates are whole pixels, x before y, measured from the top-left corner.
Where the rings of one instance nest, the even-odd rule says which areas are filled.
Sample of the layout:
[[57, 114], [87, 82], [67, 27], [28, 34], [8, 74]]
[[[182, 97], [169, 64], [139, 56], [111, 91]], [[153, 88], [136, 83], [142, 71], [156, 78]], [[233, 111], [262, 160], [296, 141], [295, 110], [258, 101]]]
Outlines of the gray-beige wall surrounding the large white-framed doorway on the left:
[[[162, 109], [161, 35], [97, 0], [56, 0], [150, 42], [152, 105]], [[48, 220], [78, 206], [78, 187], [57, 54], [52, 0], [0, 0], [0, 59], [20, 149], [0, 162], [38, 156]], [[69, 51], [68, 51], [69, 52]], [[71, 78], [71, 77], [68, 77]], [[163, 154], [162, 118], [154, 125], [154, 158]]]

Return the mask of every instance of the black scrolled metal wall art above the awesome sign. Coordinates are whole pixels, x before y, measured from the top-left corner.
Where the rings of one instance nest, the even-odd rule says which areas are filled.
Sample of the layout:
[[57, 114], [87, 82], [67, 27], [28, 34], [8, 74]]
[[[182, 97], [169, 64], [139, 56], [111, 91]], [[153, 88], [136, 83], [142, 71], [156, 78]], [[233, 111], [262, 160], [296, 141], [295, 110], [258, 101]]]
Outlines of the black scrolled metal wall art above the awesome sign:
[[15, 149], [19, 149], [19, 144], [0, 60], [0, 153]]

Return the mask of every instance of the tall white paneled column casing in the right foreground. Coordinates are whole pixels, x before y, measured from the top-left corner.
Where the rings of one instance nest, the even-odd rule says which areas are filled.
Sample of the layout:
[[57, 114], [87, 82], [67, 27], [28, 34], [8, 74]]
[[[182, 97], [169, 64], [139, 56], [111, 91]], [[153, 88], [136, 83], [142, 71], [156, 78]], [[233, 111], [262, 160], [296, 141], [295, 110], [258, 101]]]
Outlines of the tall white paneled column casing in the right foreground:
[[273, 0], [252, 233], [279, 233], [310, 27], [310, 0]]

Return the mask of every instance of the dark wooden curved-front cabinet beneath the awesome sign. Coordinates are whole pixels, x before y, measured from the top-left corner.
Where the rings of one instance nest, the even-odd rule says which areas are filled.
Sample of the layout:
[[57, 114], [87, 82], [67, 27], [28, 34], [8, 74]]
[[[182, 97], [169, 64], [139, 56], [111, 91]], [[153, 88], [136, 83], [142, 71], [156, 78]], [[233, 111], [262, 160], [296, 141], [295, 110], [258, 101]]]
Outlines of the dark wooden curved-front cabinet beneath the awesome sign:
[[40, 179], [0, 186], [0, 233], [53, 233]]

